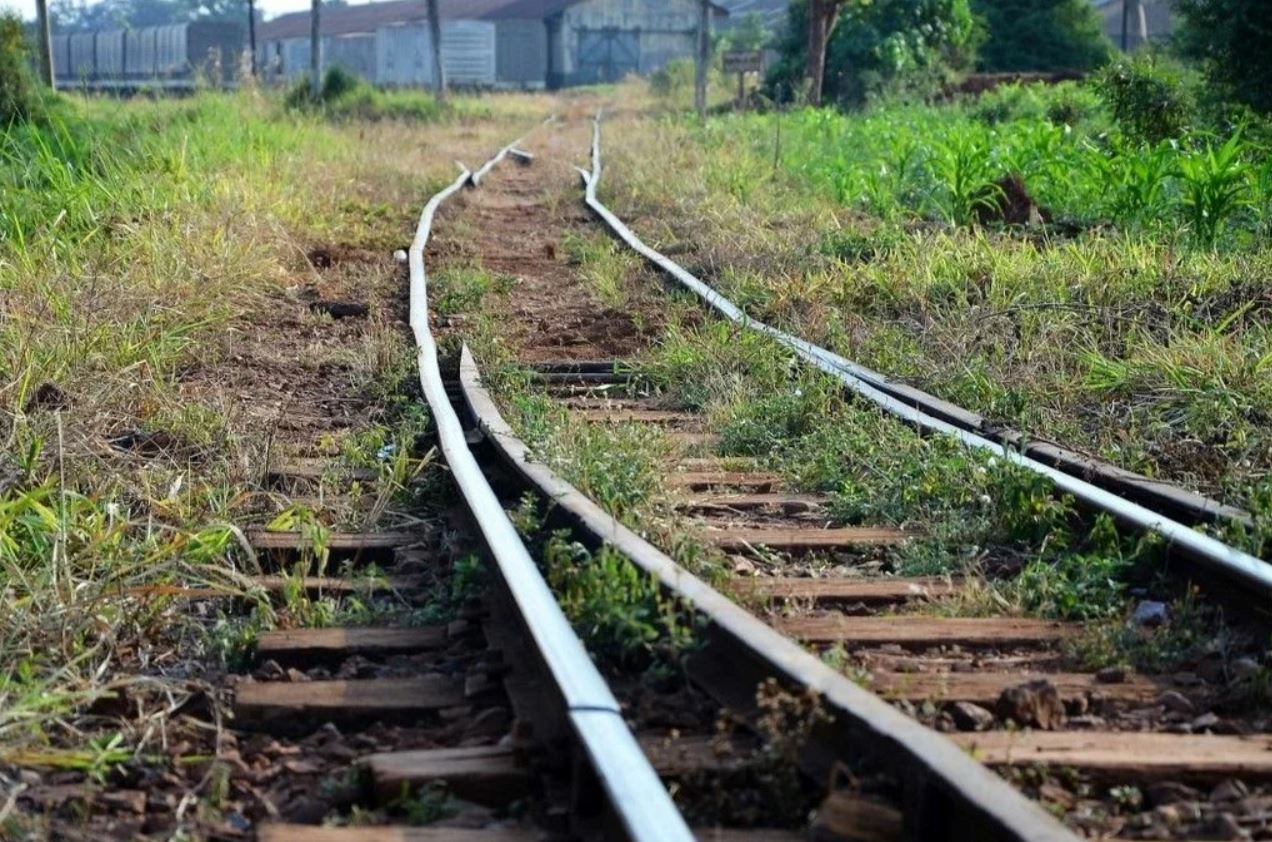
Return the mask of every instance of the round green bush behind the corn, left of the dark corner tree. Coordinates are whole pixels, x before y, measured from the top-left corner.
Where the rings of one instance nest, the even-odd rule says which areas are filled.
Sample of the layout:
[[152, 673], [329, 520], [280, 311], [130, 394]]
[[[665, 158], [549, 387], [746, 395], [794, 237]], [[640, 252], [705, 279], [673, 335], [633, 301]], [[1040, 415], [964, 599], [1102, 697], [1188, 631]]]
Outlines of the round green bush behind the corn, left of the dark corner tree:
[[1095, 88], [1127, 137], [1156, 144], [1183, 136], [1197, 120], [1197, 102], [1182, 71], [1156, 57], [1121, 59]]

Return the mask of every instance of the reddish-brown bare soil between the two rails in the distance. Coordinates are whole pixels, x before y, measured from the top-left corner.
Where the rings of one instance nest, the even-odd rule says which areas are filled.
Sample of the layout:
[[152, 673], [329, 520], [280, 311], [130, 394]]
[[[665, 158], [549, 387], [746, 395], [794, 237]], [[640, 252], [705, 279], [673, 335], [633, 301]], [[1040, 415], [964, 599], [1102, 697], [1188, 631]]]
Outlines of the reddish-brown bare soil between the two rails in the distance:
[[663, 324], [655, 286], [625, 308], [609, 307], [566, 261], [567, 231], [600, 230], [572, 169], [585, 163], [589, 140], [584, 120], [538, 130], [524, 144], [537, 154], [532, 165], [500, 167], [439, 220], [436, 263], [468, 262], [516, 279], [502, 338], [524, 361], [631, 356]]

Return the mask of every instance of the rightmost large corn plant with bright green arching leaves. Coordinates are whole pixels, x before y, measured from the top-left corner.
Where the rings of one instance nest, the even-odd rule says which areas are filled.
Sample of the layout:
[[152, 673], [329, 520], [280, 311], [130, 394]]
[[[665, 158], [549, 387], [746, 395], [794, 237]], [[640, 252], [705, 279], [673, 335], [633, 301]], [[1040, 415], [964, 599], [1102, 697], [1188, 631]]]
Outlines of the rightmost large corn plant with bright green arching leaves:
[[1179, 159], [1180, 211], [1202, 245], [1213, 245], [1231, 217], [1249, 205], [1249, 170], [1240, 135], [1219, 149], [1207, 144]]

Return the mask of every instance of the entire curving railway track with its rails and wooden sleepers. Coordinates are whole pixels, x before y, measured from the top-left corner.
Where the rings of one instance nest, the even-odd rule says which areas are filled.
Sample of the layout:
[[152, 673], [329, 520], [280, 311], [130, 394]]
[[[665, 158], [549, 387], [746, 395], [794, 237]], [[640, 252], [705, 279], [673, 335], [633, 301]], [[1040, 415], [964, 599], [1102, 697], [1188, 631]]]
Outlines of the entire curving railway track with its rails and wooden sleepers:
[[[1065, 654], [1080, 632], [1072, 623], [950, 616], [941, 605], [960, 580], [861, 565], [887, 558], [909, 530], [833, 525], [824, 495], [791, 491], [756, 460], [717, 455], [709, 418], [644, 389], [632, 374], [641, 329], [614, 329], [588, 314], [588, 296], [560, 275], [552, 247], [560, 231], [538, 228], [560, 223], [551, 196], [589, 150], [591, 167], [579, 170], [586, 206], [717, 315], [767, 333], [904, 422], [991, 449], [1088, 506], [1161, 533], [1194, 565], [1183, 574], [1235, 580], [1247, 589], [1245, 608], [1272, 585], [1266, 562], [1172, 519], [1243, 513], [1010, 432], [991, 440], [957, 407], [749, 321], [600, 204], [599, 120], [550, 121], [476, 172], [462, 168], [424, 207], [407, 252], [410, 317], [399, 327], [415, 337], [460, 537], [427, 523], [244, 535], [262, 567], [251, 585], [275, 595], [299, 588], [410, 607], [455, 585], [455, 558], [466, 548], [486, 558], [490, 581], [444, 625], [285, 628], [259, 637], [251, 675], [229, 688], [234, 740], [272, 759], [270, 770], [253, 772], [252, 786], [291, 780], [291, 797], [303, 800], [294, 792], [315, 785], [310, 754], [321, 757], [324, 772], [347, 770], [347, 791], [328, 792], [324, 804], [338, 803], [351, 820], [317, 827], [324, 810], [293, 804], [257, 820], [257, 838], [1272, 838], [1272, 790], [1264, 789], [1272, 736], [1258, 711], [1227, 712], [1224, 675], [1084, 672]], [[477, 257], [537, 273], [534, 294], [557, 299], [567, 313], [570, 337], [556, 333], [565, 322], [538, 321], [533, 301], [524, 313], [529, 327], [508, 326], [523, 340], [518, 366], [532, 388], [580, 425], [649, 427], [672, 441], [664, 478], [674, 509], [695, 541], [736, 562], [733, 574], [717, 583], [696, 576], [673, 558], [673, 547], [625, 527], [537, 460], [539, 443], [518, 438], [482, 378], [482, 360], [459, 341], [463, 324], [430, 318], [434, 263], [462, 257], [454, 243], [431, 240], [435, 220], [452, 217], [476, 233], [478, 252], [488, 251]], [[571, 219], [599, 229], [581, 205]], [[448, 356], [439, 347], [462, 350]], [[268, 480], [287, 506], [304, 505], [315, 490], [329, 491], [337, 473], [321, 460], [289, 458], [272, 464]], [[336, 485], [357, 480], [343, 471]], [[571, 541], [593, 552], [609, 547], [641, 580], [656, 581], [663, 604], [687, 618], [696, 638], [679, 672], [655, 680], [593, 661], [588, 628], [571, 626], [534, 543], [509, 514], [527, 493]], [[318, 576], [286, 575], [298, 566], [314, 572], [319, 557]], [[808, 557], [861, 571], [806, 575]], [[373, 576], [356, 572], [366, 565]], [[828, 663], [829, 650], [840, 663]], [[1141, 803], [1133, 819], [1118, 820], [1114, 803], [1132, 797], [1128, 787]], [[413, 818], [434, 819], [440, 813], [429, 814], [436, 806], [430, 799], [440, 792], [471, 808], [463, 822], [356, 820], [384, 804], [411, 804]]]

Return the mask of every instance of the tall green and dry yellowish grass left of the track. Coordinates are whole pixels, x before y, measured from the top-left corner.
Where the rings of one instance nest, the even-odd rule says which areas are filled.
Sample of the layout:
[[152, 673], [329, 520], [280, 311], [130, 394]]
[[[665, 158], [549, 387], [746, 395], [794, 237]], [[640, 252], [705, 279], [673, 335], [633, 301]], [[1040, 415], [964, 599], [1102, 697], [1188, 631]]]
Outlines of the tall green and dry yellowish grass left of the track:
[[[251, 490], [281, 446], [277, 420], [253, 410], [307, 371], [341, 371], [368, 417], [329, 452], [380, 467], [365, 490], [373, 516], [380, 497], [418, 485], [429, 462], [415, 444], [427, 417], [402, 397], [411, 355], [392, 310], [399, 280], [357, 262], [321, 270], [307, 253], [401, 248], [455, 156], [477, 159], [542, 109], [536, 98], [502, 102], [459, 102], [422, 128], [356, 114], [332, 122], [251, 89], [64, 97], [41, 123], [0, 130], [0, 754], [9, 762], [144, 763], [170, 702], [192, 692], [170, 663], [215, 678], [218, 660], [244, 651], [280, 612], [309, 623], [380, 616], [361, 597], [310, 600], [293, 588], [275, 608], [248, 588], [257, 569], [239, 527], [262, 521]], [[466, 125], [473, 113], [486, 116], [482, 126]], [[296, 290], [307, 285], [369, 296], [365, 327], [346, 342], [321, 340], [337, 329], [326, 317], [280, 328], [280, 313], [304, 312]], [[315, 534], [343, 525], [326, 511], [287, 518]], [[190, 611], [183, 589], [204, 586], [254, 608]], [[448, 605], [438, 603], [439, 616]], [[89, 715], [112, 694], [136, 700], [146, 717]], [[0, 836], [41, 820], [10, 814]]]

